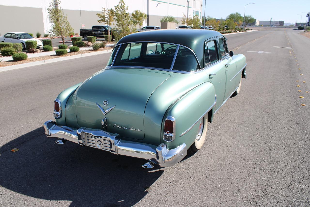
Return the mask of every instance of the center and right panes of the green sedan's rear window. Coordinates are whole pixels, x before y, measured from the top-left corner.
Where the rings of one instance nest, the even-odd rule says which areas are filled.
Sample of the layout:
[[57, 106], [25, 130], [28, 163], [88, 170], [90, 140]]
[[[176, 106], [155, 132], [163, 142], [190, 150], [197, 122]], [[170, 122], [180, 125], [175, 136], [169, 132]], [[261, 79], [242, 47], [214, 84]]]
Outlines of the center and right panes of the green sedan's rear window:
[[[170, 69], [178, 46], [165, 43], [122, 44], [113, 66], [137, 66]], [[114, 58], [113, 58], [114, 59]], [[194, 71], [199, 69], [196, 57], [188, 48], [179, 47], [173, 70]]]

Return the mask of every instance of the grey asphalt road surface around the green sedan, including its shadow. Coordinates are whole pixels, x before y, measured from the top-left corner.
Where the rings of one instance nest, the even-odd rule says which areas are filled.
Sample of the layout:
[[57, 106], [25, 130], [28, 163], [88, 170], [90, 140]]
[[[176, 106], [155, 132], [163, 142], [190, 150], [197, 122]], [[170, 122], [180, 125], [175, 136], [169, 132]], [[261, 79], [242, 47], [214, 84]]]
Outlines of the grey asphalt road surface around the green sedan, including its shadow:
[[110, 54], [1, 72], [0, 206], [310, 206], [310, 39], [298, 32], [226, 36], [246, 55], [248, 78], [215, 114], [202, 149], [167, 168], [44, 135], [60, 91]]

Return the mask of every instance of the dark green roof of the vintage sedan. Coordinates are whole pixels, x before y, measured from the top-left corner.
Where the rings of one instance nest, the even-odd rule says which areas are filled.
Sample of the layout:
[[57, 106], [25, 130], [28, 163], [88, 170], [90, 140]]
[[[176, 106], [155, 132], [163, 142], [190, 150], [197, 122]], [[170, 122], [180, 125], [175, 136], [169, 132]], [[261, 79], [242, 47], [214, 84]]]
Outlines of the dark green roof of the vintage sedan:
[[144, 32], [136, 32], [122, 37], [117, 44], [128, 42], [165, 42], [184, 45], [191, 48], [196, 54], [199, 61], [203, 61], [205, 40], [223, 36], [221, 33], [214, 30], [201, 29], [162, 29], [148, 30]]

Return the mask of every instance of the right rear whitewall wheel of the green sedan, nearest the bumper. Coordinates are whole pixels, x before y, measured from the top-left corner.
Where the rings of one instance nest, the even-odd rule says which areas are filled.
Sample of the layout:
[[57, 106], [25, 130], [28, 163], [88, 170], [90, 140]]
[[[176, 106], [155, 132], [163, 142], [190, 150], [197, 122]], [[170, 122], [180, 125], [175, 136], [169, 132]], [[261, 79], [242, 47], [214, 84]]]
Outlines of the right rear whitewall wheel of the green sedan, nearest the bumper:
[[192, 146], [189, 147], [188, 151], [190, 153], [197, 152], [203, 145], [206, 139], [207, 134], [207, 128], [208, 128], [208, 114], [206, 114], [206, 117], [203, 117], [198, 123], [198, 131], [195, 138], [194, 143]]

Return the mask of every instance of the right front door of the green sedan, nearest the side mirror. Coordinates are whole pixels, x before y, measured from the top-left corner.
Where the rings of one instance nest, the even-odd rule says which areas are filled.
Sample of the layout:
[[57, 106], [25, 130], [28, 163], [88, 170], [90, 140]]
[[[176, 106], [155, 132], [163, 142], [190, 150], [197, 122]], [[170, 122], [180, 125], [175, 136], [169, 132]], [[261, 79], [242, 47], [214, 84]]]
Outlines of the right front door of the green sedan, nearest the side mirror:
[[[222, 64], [226, 69], [226, 92], [224, 100], [228, 99], [236, 90], [236, 62], [229, 56], [226, 39], [223, 36], [218, 37], [220, 51], [224, 50], [225, 57], [222, 59]], [[224, 48], [223, 48], [224, 47]]]

